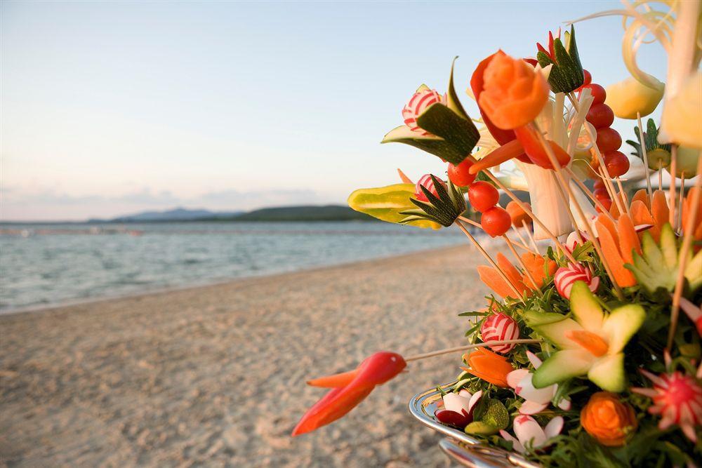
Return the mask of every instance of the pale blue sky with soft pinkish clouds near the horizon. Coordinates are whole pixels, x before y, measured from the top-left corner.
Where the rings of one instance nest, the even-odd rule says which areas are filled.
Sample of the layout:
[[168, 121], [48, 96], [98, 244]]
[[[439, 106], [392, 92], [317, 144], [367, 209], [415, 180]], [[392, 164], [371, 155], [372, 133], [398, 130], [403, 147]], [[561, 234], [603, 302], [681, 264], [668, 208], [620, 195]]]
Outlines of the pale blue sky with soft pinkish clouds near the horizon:
[[[110, 218], [175, 206], [345, 203], [359, 187], [442, 174], [379, 145], [421, 83], [465, 94], [498, 48], [616, 1], [0, 4], [0, 220]], [[620, 18], [576, 25], [583, 66], [628, 76]], [[640, 65], [665, 80], [665, 54]], [[656, 114], [654, 114], [655, 116]], [[632, 121], [618, 121], [624, 140]], [[628, 150], [626, 151], [628, 152]]]

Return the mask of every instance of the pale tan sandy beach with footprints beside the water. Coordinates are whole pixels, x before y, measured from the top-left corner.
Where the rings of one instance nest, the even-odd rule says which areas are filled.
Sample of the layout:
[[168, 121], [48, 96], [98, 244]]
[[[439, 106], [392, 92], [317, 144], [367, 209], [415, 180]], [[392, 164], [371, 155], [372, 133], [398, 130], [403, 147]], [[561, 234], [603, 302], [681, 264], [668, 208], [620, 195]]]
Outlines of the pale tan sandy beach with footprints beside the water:
[[447, 466], [406, 408], [460, 355], [409, 366], [295, 439], [305, 380], [379, 349], [461, 345], [486, 287], [468, 246], [0, 316], [0, 464]]

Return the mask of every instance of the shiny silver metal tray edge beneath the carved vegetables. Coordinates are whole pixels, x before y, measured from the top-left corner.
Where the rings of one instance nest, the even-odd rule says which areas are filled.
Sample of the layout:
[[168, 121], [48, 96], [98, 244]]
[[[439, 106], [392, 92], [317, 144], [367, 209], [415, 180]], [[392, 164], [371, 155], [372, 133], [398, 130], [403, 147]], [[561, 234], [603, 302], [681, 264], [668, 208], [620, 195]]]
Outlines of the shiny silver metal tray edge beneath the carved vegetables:
[[[451, 389], [453, 385], [456, 385], [456, 382], [440, 387]], [[441, 402], [441, 393], [435, 388], [429, 389], [412, 397], [409, 402], [409, 412], [419, 422], [448, 438], [440, 441], [439, 447], [454, 461], [473, 468], [540, 468], [540, 465], [529, 462], [517, 453], [486, 446], [479, 439], [438, 422], [434, 413]]]

